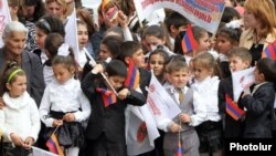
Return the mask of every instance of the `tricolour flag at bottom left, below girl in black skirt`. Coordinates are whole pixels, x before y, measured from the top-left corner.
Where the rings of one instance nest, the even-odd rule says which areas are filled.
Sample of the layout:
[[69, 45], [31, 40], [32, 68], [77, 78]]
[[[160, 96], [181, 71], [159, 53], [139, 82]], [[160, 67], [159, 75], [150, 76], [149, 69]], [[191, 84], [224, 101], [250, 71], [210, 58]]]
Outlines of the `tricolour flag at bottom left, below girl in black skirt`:
[[63, 153], [62, 147], [60, 146], [60, 144], [57, 142], [55, 134], [52, 134], [52, 136], [47, 139], [46, 146], [51, 153], [57, 154], [60, 156], [64, 156], [64, 153]]

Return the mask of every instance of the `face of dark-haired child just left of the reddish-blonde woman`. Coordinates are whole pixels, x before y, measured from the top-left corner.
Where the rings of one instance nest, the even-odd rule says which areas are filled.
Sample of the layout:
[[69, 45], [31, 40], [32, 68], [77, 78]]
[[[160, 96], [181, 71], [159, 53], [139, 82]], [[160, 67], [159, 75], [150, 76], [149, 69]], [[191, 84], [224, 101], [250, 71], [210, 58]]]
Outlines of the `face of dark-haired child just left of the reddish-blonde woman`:
[[216, 39], [216, 50], [219, 53], [227, 54], [229, 51], [233, 48], [234, 45], [231, 43], [231, 41], [222, 35], [219, 35]]

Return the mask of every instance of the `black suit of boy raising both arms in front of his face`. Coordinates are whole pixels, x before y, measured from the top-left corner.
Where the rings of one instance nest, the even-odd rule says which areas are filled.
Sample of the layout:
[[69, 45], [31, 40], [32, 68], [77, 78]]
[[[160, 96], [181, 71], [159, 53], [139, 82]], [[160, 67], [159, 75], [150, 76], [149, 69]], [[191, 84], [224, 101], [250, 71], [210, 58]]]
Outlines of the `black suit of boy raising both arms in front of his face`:
[[92, 115], [85, 131], [86, 153], [93, 156], [126, 156], [125, 108], [127, 104], [144, 105], [141, 93], [129, 89], [130, 95], [124, 101], [104, 106], [102, 93], [97, 89], [107, 89], [100, 74], [89, 72], [82, 82], [82, 90], [88, 97]]

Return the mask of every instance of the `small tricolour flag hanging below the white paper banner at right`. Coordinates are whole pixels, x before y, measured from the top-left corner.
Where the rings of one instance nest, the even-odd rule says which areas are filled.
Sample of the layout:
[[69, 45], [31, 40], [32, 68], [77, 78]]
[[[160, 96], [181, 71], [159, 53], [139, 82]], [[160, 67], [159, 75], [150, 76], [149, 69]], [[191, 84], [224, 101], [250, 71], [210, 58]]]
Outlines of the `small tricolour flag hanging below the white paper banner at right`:
[[241, 110], [227, 94], [225, 95], [225, 101], [226, 101], [226, 113], [235, 121], [240, 119], [243, 116], [244, 111]]

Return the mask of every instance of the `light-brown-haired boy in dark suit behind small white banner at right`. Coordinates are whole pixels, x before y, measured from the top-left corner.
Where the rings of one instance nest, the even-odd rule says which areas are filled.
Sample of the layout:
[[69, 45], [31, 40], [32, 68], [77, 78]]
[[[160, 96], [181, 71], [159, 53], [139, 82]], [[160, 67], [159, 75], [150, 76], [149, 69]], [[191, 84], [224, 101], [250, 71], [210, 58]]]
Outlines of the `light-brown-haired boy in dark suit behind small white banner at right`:
[[[251, 66], [252, 56], [245, 48], [233, 48], [227, 54], [230, 71], [237, 72], [246, 70]], [[223, 135], [225, 138], [242, 137], [242, 123], [241, 119], [235, 121], [226, 113], [225, 95], [233, 100], [233, 84], [232, 76], [223, 79], [219, 85], [219, 108], [223, 118]], [[240, 104], [240, 102], [237, 102]]]

